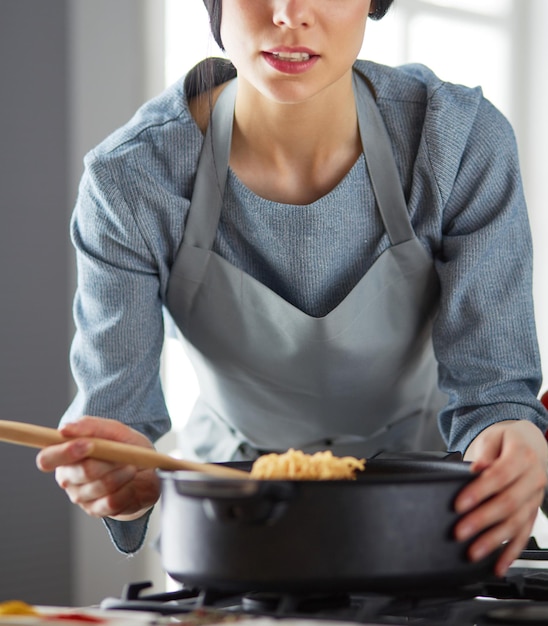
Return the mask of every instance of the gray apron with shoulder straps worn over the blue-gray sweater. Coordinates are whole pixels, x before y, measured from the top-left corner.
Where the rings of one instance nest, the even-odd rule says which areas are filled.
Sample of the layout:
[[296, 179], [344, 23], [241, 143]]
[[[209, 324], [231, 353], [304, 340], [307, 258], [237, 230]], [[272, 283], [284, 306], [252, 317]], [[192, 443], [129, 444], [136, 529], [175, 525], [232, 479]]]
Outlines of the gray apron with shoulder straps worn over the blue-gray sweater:
[[390, 238], [353, 290], [311, 317], [212, 251], [230, 155], [236, 81], [209, 125], [167, 308], [200, 397], [180, 434], [186, 456], [254, 459], [290, 447], [372, 456], [443, 449], [431, 340], [438, 282], [415, 237], [373, 96], [354, 76], [359, 129]]

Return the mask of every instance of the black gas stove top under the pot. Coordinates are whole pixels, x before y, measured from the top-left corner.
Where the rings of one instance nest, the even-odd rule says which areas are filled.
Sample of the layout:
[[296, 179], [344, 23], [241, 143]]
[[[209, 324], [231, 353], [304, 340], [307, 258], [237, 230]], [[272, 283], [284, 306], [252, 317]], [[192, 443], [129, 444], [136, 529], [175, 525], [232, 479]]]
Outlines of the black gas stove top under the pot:
[[[364, 592], [237, 593], [182, 586], [177, 591], [149, 593], [150, 583], [127, 585], [120, 598], [108, 598], [102, 609], [142, 610], [158, 615], [158, 623], [206, 626], [238, 622], [238, 626], [326, 626], [359, 623], [416, 626], [548, 625], [548, 551], [532, 540], [522, 559], [503, 578], [457, 589], [382, 595]], [[526, 559], [526, 560], [524, 560]], [[291, 623], [291, 624], [290, 624]]]

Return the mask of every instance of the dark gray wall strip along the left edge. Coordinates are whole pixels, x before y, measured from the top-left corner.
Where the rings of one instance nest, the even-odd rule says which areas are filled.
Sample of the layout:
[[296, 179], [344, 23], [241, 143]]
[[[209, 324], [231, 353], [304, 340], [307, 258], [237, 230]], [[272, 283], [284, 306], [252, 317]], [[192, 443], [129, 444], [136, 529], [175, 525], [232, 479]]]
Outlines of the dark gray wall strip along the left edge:
[[[0, 418], [55, 426], [69, 395], [65, 0], [0, 1]], [[70, 600], [69, 506], [0, 444], [0, 600]]]

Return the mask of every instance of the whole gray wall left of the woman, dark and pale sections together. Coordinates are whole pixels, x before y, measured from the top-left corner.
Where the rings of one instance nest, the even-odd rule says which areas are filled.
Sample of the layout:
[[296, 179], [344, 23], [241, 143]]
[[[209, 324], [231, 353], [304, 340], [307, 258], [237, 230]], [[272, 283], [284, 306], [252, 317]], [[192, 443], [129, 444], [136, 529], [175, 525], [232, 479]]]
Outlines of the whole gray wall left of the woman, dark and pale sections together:
[[[0, 419], [55, 427], [73, 394], [68, 221], [82, 157], [162, 84], [147, 35], [160, 4], [0, 0]], [[0, 443], [0, 601], [89, 604], [148, 578], [147, 549], [116, 553], [34, 457]]]

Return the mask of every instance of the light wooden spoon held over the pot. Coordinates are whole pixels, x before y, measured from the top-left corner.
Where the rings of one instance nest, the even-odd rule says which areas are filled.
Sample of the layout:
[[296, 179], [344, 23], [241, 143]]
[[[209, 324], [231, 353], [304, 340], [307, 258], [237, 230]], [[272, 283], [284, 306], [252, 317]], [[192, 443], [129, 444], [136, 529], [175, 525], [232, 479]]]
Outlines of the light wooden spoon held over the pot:
[[[86, 439], [93, 445], [88, 456], [101, 461], [125, 463], [139, 468], [202, 472], [203, 474], [210, 474], [219, 478], [250, 478], [248, 472], [225, 467], [224, 465], [175, 459], [155, 450], [109, 439], [94, 437], [83, 437], [83, 439]], [[47, 446], [70, 441], [70, 438], [63, 437], [55, 428], [0, 420], [0, 441], [16, 443], [31, 448], [46, 448]]]

